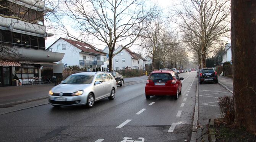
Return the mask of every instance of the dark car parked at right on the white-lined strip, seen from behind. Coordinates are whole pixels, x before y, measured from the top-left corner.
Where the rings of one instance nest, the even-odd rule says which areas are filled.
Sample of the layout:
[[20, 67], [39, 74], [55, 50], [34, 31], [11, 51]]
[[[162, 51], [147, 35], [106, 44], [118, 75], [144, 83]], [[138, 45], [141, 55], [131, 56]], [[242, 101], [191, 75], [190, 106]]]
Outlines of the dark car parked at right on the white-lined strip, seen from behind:
[[199, 73], [199, 84], [202, 82], [215, 82], [218, 83], [217, 72], [213, 68], [202, 68]]

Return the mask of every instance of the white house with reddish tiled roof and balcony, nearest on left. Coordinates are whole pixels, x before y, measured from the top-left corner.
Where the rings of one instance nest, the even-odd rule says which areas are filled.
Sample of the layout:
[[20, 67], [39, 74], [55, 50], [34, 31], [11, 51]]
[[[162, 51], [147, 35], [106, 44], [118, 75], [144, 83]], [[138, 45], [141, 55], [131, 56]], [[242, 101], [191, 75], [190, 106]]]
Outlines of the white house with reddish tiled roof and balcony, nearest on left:
[[56, 52], [65, 53], [63, 59], [58, 63], [63, 63], [66, 66], [85, 67], [90, 70], [100, 68], [106, 71], [106, 54], [101, 53], [103, 50], [90, 44], [59, 38], [49, 48]]

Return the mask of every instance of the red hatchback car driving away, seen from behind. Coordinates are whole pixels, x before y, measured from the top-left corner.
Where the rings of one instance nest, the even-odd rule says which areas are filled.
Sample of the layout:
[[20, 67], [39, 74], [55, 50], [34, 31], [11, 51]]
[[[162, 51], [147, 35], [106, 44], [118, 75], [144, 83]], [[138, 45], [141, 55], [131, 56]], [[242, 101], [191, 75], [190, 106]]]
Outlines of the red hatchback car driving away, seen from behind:
[[153, 71], [149, 75], [145, 87], [146, 98], [149, 99], [150, 96], [153, 95], [168, 95], [175, 96], [175, 99], [178, 99], [178, 95], [181, 94], [182, 88], [180, 80], [183, 79], [183, 77], [179, 77], [174, 71]]

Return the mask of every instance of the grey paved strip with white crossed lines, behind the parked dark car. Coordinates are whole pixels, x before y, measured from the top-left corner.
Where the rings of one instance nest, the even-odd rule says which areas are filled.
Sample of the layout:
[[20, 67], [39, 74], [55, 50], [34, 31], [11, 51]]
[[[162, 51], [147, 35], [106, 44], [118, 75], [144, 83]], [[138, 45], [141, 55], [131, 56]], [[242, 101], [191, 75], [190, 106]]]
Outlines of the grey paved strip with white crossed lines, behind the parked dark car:
[[[221, 81], [224, 79], [220, 79]], [[220, 82], [219, 80], [219, 82]], [[232, 79], [231, 79], [232, 80]], [[230, 84], [230, 81], [227, 81]], [[199, 85], [199, 84], [198, 84]], [[232, 96], [228, 90], [215, 83], [203, 83], [198, 87], [198, 129], [197, 141], [208, 141], [207, 125], [210, 118], [219, 118], [219, 97]]]

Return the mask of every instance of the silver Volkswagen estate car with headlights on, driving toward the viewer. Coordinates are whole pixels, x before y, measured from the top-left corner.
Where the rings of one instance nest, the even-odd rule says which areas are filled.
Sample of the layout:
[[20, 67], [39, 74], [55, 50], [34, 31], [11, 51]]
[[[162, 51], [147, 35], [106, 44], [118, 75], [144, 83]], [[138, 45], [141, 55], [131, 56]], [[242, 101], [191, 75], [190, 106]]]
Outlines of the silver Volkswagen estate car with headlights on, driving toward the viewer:
[[110, 73], [76, 73], [49, 91], [49, 102], [52, 106], [92, 107], [100, 99], [113, 100], [116, 90], [116, 80]]

